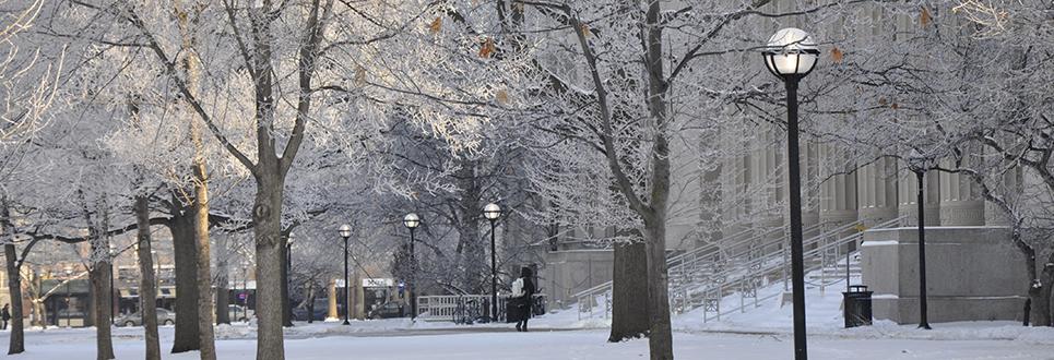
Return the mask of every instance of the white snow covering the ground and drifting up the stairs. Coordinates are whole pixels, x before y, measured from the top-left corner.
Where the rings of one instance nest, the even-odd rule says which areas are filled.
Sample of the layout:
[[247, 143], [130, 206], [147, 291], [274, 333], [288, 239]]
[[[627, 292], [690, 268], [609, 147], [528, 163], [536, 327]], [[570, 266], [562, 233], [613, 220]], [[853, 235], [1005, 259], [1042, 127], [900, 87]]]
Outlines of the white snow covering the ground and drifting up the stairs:
[[[781, 285], [760, 289], [761, 296]], [[841, 288], [810, 289], [807, 297], [809, 356], [813, 359], [1054, 359], [1054, 328], [1023, 327], [1014, 322], [933, 324], [933, 331], [879, 321], [874, 326], [842, 328]], [[789, 359], [792, 355], [791, 307], [780, 297], [747, 312], [703, 322], [702, 310], [674, 317], [674, 352], [679, 359]], [[738, 305], [738, 297], [722, 307]], [[711, 314], [712, 316], [712, 314]], [[297, 323], [286, 329], [287, 359], [641, 359], [648, 340], [608, 344], [611, 321], [603, 315], [579, 320], [576, 308], [531, 321], [530, 333], [510, 324], [454, 325], [405, 319], [335, 323]], [[7, 344], [0, 332], [0, 344]], [[91, 359], [91, 328], [33, 328], [24, 355], [12, 359]], [[253, 359], [256, 327], [223, 325], [216, 331], [220, 359]], [[143, 357], [142, 331], [114, 333], [118, 359]], [[171, 347], [173, 327], [161, 329], [162, 349]], [[164, 351], [163, 351], [164, 352]], [[196, 359], [197, 353], [166, 359]]]

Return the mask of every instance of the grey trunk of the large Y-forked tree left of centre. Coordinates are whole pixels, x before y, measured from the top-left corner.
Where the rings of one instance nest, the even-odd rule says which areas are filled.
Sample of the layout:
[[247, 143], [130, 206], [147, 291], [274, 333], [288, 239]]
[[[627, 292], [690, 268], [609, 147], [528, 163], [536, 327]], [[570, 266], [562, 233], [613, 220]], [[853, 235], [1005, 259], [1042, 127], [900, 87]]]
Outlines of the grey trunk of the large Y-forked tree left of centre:
[[[275, 159], [276, 160], [276, 159]], [[265, 161], [261, 161], [267, 166]], [[285, 359], [282, 333], [282, 196], [284, 179], [265, 172], [257, 178], [252, 207], [256, 225], [257, 360]]]

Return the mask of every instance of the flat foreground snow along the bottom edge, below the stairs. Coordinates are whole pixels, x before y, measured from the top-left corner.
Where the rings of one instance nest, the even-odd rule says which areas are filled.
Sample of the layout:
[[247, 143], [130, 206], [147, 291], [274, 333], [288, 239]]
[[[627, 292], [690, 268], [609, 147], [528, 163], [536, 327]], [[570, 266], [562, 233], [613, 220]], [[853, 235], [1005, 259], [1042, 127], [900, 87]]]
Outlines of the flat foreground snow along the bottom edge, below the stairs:
[[[303, 338], [286, 341], [288, 359], [641, 359], [647, 358], [647, 340], [607, 344], [605, 329], [509, 332], [497, 326], [471, 328], [400, 329], [400, 323], [378, 322], [372, 329], [334, 334], [336, 324], [303, 324], [297, 331]], [[337, 329], [332, 329], [336, 326]], [[910, 326], [887, 337], [874, 338], [875, 332], [818, 334], [810, 337], [813, 359], [1054, 359], [1054, 338], [1040, 329], [1042, 337], [1012, 338], [976, 332], [961, 325], [936, 334], [971, 339], [916, 339]], [[171, 344], [173, 328], [162, 328], [162, 348]], [[401, 332], [408, 332], [402, 333]], [[465, 333], [470, 332], [470, 333]], [[1029, 334], [1031, 332], [1025, 332]], [[315, 334], [308, 336], [307, 334]], [[949, 335], [951, 334], [951, 335]], [[92, 359], [94, 333], [91, 329], [31, 331], [26, 334], [27, 353], [11, 359]], [[118, 359], [143, 358], [142, 334], [134, 328], [119, 328], [115, 347]], [[293, 335], [293, 334], [291, 334]], [[412, 336], [407, 336], [412, 335]], [[317, 337], [312, 337], [317, 336]], [[908, 338], [903, 338], [908, 336]], [[994, 339], [985, 338], [993, 336]], [[8, 341], [0, 333], [0, 341]], [[726, 333], [676, 333], [674, 351], [679, 359], [786, 359], [791, 355], [787, 334], [738, 335]], [[216, 343], [220, 359], [253, 359], [256, 343], [250, 339], [223, 339]], [[197, 353], [165, 359], [194, 359]]]

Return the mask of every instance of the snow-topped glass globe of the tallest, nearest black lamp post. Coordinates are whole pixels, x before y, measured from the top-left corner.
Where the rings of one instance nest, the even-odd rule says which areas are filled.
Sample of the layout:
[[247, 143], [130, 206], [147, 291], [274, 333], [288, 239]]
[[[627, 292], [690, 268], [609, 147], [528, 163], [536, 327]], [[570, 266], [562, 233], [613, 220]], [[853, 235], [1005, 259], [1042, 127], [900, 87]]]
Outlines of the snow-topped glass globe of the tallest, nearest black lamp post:
[[765, 56], [766, 68], [785, 81], [808, 75], [816, 67], [820, 50], [808, 33], [787, 27], [772, 34], [761, 53]]

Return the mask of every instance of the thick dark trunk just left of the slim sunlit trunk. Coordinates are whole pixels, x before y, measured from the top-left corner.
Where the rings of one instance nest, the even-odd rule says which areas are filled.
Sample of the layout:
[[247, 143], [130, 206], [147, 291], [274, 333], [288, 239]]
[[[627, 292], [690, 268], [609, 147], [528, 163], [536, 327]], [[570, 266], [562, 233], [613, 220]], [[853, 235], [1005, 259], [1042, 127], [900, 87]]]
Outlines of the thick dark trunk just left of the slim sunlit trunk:
[[[198, 247], [194, 244], [193, 218], [190, 208], [179, 205], [173, 196], [171, 231], [173, 254], [176, 262], [176, 334], [171, 352], [187, 352], [201, 349], [198, 329]], [[158, 266], [159, 268], [159, 266]]]

